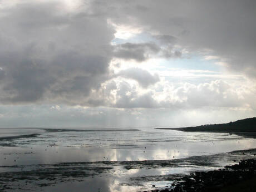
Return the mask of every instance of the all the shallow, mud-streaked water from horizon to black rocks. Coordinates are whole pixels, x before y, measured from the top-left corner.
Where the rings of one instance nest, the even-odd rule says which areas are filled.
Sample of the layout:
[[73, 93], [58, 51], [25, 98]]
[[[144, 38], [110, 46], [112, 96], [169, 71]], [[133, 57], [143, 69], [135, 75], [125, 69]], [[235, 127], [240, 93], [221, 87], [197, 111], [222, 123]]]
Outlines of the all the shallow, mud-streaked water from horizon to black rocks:
[[[8, 187], [9, 191], [86, 188], [88, 192], [138, 191], [153, 184], [161, 187], [172, 182], [170, 177], [254, 158], [254, 151], [227, 152], [256, 146], [256, 139], [234, 134], [151, 127], [9, 130], [0, 129], [0, 183], [6, 184], [6, 191]], [[19, 131], [21, 135], [38, 135], [7, 138]], [[12, 182], [4, 180], [8, 176]]]

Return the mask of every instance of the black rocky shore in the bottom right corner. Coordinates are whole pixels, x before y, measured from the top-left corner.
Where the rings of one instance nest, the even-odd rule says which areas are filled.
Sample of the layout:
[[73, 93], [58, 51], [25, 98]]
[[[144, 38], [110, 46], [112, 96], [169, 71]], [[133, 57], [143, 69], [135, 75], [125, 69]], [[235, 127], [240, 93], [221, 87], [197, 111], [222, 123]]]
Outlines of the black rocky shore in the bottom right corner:
[[[238, 185], [243, 190], [234, 185]], [[229, 188], [232, 186], [237, 188], [232, 189], [232, 191], [256, 191], [255, 159], [243, 160], [238, 164], [225, 166], [224, 169], [191, 173], [174, 181], [169, 188], [150, 190], [150, 192], [230, 191]]]

